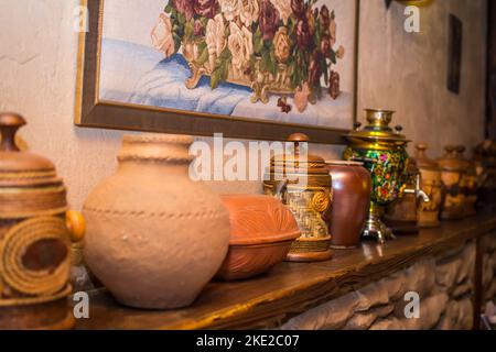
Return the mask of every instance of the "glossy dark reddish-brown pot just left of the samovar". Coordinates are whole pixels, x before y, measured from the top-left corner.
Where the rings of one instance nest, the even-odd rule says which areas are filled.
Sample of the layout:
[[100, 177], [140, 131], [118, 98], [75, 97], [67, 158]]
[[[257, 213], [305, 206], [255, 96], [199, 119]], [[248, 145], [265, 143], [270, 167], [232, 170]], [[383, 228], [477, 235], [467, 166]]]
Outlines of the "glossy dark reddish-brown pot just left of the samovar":
[[331, 161], [326, 167], [333, 179], [333, 205], [326, 219], [335, 249], [359, 244], [370, 206], [371, 178], [363, 163]]

